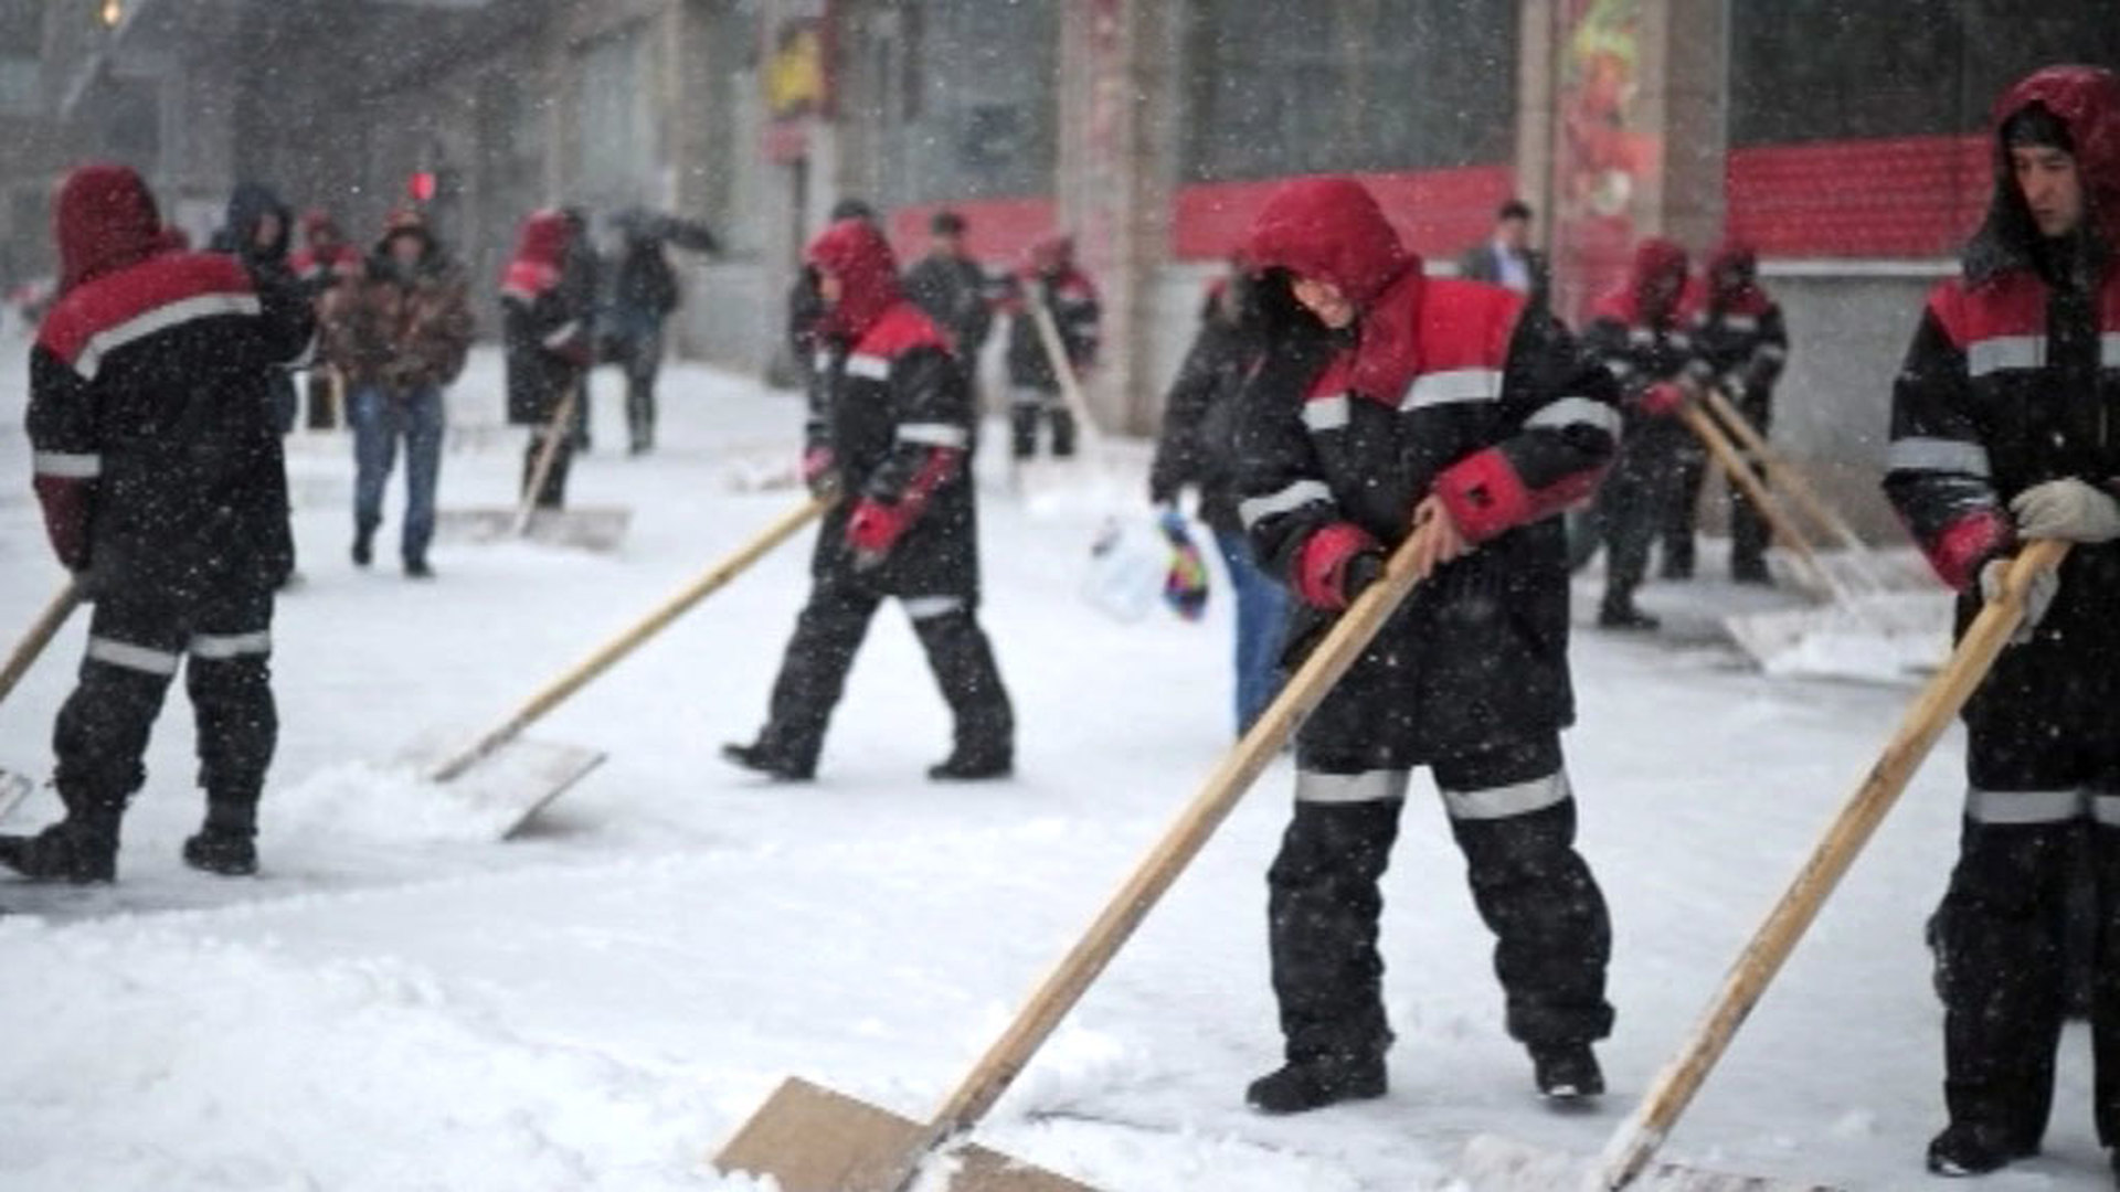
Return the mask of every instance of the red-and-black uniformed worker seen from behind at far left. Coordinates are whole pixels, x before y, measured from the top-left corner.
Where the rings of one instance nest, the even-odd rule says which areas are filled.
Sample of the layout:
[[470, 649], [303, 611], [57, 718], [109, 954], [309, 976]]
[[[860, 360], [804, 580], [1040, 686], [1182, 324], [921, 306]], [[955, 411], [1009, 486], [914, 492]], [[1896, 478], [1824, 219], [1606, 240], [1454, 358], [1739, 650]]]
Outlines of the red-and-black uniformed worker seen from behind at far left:
[[310, 301], [284, 261], [176, 250], [125, 165], [74, 170], [55, 225], [59, 299], [30, 352], [28, 431], [53, 551], [95, 615], [53, 730], [66, 819], [0, 838], [0, 863], [117, 876], [119, 821], [184, 664], [206, 787], [184, 861], [250, 874], [278, 738], [273, 590], [295, 558], [269, 395], [312, 350]]

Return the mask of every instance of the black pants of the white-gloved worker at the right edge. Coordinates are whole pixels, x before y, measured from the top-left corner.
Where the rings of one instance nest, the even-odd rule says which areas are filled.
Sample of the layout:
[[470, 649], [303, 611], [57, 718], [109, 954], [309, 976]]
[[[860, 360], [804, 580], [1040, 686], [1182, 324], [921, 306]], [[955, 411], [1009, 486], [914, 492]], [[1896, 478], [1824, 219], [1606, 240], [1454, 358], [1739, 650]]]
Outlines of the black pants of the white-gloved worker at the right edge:
[[[2071, 560], [2075, 562], [2075, 560]], [[2063, 596], [2082, 573], [2063, 573]], [[2086, 596], [2078, 592], [2078, 596]], [[2056, 600], [2056, 611], [2061, 607]], [[2073, 613], [2073, 609], [2071, 609]], [[2109, 615], [2099, 611], [2097, 615]], [[2048, 624], [2056, 617], [2050, 613]], [[2112, 643], [2078, 621], [2003, 651], [1965, 713], [1959, 863], [1936, 918], [1944, 1103], [2033, 1145], [2054, 1097], [2071, 887], [2097, 887], [2090, 1039], [2099, 1141], [2120, 1145], [2120, 717]], [[2088, 638], [2088, 641], [2086, 641]], [[2086, 651], [2086, 647], [2090, 647]]]

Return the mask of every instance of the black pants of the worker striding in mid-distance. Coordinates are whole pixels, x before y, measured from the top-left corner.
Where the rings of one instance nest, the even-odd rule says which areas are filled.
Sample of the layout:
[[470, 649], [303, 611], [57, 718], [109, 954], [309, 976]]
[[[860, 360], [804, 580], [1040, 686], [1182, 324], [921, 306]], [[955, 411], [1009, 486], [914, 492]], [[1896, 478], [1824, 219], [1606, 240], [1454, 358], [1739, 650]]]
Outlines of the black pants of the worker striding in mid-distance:
[[[859, 577], [827, 573], [810, 588], [810, 602], [795, 617], [774, 681], [759, 744], [814, 766], [825, 747], [831, 711], [846, 691], [846, 674], [884, 596]], [[929, 670], [956, 719], [956, 749], [977, 757], [1009, 757], [1015, 713], [1001, 685], [994, 649], [979, 628], [977, 602], [962, 596], [901, 596]]]

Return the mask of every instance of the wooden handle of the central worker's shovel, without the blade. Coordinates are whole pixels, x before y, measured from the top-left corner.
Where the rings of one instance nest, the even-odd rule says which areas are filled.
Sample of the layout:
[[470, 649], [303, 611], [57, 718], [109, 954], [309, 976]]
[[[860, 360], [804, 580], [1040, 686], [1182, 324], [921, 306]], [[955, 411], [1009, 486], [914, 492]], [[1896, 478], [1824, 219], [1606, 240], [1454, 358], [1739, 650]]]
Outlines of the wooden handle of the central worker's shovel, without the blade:
[[1295, 732], [1295, 725], [1319, 706], [1333, 683], [1346, 674], [1391, 613], [1414, 590], [1414, 537], [1393, 551], [1384, 575], [1372, 583], [1340, 621], [1325, 634], [1325, 641], [1289, 677], [1280, 696], [1268, 704], [1266, 713], [1251, 725], [1251, 732], [1236, 742], [1221, 766], [1208, 774], [1200, 793], [1179, 812], [1164, 838], [1134, 867], [1126, 884], [1111, 897], [1096, 923], [1075, 942], [1060, 965], [1030, 995], [1018, 1012], [1015, 1022], [994, 1041], [979, 1063], [973, 1065], [965, 1082], [950, 1094], [935, 1116], [935, 1133], [948, 1137], [971, 1128], [992, 1109], [994, 1101], [1009, 1088], [1015, 1075], [1030, 1063], [1039, 1046], [1054, 1033], [1068, 1010], [1090, 988], [1090, 982], [1105, 971], [1111, 957], [1132, 937], [1141, 921], [1164, 897], [1177, 876], [1200, 855], [1208, 836], [1230, 814], [1230, 808], [1244, 795], [1259, 772], [1280, 753], [1280, 744]]

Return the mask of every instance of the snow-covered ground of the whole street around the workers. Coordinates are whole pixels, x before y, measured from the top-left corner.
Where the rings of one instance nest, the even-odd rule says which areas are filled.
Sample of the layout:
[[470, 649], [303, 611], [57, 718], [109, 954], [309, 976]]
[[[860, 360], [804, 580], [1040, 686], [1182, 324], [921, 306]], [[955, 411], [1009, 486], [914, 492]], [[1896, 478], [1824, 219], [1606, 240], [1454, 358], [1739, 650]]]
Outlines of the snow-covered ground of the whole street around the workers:
[[[19, 344], [4, 354], [23, 358]], [[61, 579], [30, 501], [21, 386], [19, 365], [0, 380], [8, 634]], [[990, 486], [986, 621], [1022, 721], [1018, 781], [924, 781], [948, 721], [890, 611], [816, 785], [761, 785], [717, 759], [759, 725], [803, 545], [551, 715], [536, 736], [611, 761], [526, 838], [481, 838], [396, 759], [500, 717], [795, 501], [731, 484], [793, 452], [791, 395], [674, 367], [666, 445], [644, 460], [615, 452], [611, 373], [596, 418], [575, 501], [634, 509], [621, 554], [445, 543], [426, 585], [396, 573], [394, 520], [379, 564], [352, 568], [350, 448], [297, 435], [307, 581], [276, 626], [267, 872], [180, 865], [199, 795], [174, 689], [121, 884], [0, 882], [0, 1188], [750, 1188], [706, 1156], [787, 1073], [931, 1111], [1227, 744], [1225, 596], [1204, 624], [1119, 624], [1081, 598], [1100, 501], [1138, 488], [1026, 505]], [[452, 420], [443, 505], [505, 503], [517, 439], [496, 426], [490, 354]], [[1138, 467], [1138, 452], [1115, 454], [1117, 471]], [[982, 1137], [1113, 1192], [1442, 1188], [1476, 1133], [1594, 1152], [1908, 698], [1751, 672], [1715, 641], [1717, 594], [1651, 588], [1645, 604], [1677, 613], [1664, 638], [1575, 638], [1584, 717], [1567, 740], [1618, 935], [1613, 1094], [1596, 1111], [1535, 1101], [1427, 787], [1386, 878], [1391, 1097], [1293, 1120], [1244, 1111], [1244, 1082], [1278, 1054], [1264, 870], [1287, 814], [1280, 766]], [[0, 766], [49, 768], [81, 634], [76, 621], [0, 704]], [[1955, 848], [1959, 749], [1946, 736], [1671, 1156], [1842, 1188], [1929, 1184], [1940, 1014], [1921, 923]], [[51, 814], [40, 791], [0, 827]], [[2109, 1179], [2086, 1056], [2071, 1027], [2046, 1158], [1984, 1188]]]

